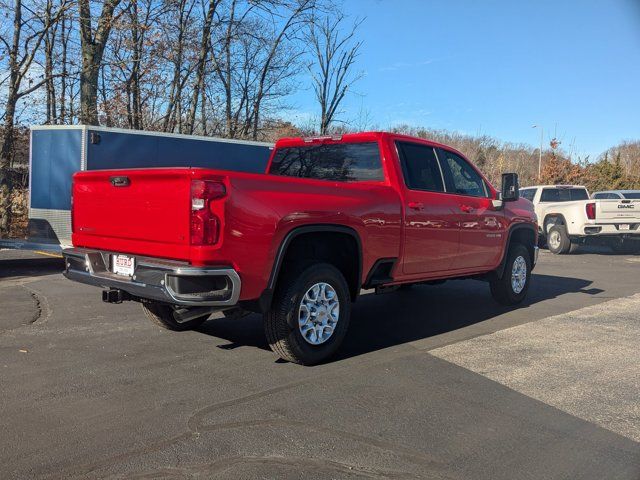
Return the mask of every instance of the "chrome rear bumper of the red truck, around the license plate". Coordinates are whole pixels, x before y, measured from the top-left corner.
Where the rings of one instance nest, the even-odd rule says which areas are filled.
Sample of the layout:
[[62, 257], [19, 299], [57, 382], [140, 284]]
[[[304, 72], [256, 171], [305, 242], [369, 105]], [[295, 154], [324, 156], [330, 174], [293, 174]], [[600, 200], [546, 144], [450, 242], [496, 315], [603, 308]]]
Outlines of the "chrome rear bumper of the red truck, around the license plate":
[[183, 306], [235, 305], [242, 286], [240, 276], [228, 267], [192, 267], [184, 262], [134, 256], [132, 277], [110, 271], [111, 256], [86, 248], [62, 251], [64, 276], [69, 280], [127, 292], [133, 297]]

